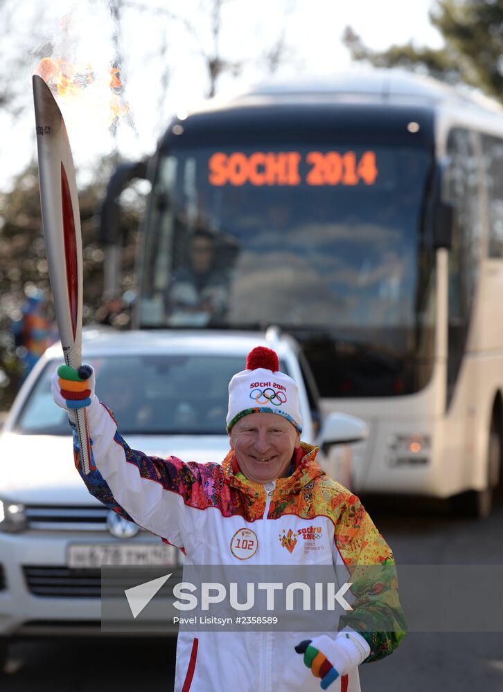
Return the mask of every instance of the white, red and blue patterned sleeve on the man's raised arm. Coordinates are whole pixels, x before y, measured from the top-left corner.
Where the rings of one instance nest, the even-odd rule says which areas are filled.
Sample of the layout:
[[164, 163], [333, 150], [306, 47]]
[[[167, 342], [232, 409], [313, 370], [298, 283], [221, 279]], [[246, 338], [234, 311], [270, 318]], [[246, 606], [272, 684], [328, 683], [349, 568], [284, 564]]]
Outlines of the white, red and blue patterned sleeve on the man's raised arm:
[[[76, 466], [87, 489], [107, 507], [178, 547], [185, 546], [186, 506], [204, 509], [211, 498], [200, 464], [176, 457], [149, 457], [131, 449], [117, 432], [110, 412], [97, 399], [88, 409], [92, 461], [96, 468], [84, 475], [80, 468], [78, 437], [73, 435]], [[205, 465], [206, 475], [218, 473], [218, 464]]]

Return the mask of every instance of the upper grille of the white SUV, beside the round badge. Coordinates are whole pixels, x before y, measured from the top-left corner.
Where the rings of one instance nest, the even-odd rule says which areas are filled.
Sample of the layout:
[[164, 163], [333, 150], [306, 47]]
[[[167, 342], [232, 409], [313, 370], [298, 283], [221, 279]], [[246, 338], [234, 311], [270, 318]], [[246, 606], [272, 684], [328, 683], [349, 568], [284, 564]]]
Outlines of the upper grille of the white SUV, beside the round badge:
[[28, 527], [40, 531], [107, 531], [107, 514], [104, 505], [96, 507], [54, 507], [51, 505], [26, 505]]

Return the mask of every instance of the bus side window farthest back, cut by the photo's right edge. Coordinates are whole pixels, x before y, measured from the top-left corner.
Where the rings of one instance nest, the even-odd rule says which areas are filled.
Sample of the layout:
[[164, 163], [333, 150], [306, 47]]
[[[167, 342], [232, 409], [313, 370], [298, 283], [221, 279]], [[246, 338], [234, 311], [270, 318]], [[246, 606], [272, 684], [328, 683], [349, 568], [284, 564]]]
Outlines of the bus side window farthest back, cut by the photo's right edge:
[[484, 182], [489, 225], [489, 257], [503, 257], [503, 140], [483, 136]]

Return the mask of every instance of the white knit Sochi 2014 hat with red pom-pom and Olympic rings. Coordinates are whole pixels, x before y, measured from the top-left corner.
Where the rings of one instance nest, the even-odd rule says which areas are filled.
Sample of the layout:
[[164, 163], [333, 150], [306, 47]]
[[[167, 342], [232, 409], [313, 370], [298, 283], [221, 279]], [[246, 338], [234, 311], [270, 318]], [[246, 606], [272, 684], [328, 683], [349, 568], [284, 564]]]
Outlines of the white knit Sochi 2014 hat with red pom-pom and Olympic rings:
[[251, 349], [246, 368], [229, 382], [227, 432], [250, 413], [277, 413], [302, 432], [299, 389], [291, 377], [279, 372], [276, 352], [265, 346]]

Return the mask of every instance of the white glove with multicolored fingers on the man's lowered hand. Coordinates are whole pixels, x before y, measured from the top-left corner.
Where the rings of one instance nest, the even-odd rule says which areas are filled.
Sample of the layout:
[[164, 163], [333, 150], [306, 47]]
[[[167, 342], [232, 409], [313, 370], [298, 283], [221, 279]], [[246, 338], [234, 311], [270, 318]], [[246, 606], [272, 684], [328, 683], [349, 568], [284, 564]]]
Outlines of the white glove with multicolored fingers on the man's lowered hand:
[[328, 635], [305, 639], [295, 650], [303, 653], [304, 664], [311, 669], [312, 675], [321, 677], [319, 684], [324, 690], [339, 675], [347, 675], [370, 655], [369, 644], [357, 632], [339, 632], [335, 639]]

